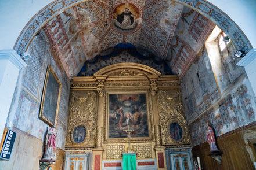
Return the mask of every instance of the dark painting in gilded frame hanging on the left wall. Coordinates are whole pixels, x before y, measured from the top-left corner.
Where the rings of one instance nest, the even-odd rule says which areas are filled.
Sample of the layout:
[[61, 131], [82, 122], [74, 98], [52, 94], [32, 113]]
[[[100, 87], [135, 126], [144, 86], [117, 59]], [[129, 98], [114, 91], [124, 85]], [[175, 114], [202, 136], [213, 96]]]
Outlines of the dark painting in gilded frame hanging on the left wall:
[[52, 67], [48, 65], [39, 117], [50, 126], [56, 123], [61, 90], [62, 83], [53, 72]]

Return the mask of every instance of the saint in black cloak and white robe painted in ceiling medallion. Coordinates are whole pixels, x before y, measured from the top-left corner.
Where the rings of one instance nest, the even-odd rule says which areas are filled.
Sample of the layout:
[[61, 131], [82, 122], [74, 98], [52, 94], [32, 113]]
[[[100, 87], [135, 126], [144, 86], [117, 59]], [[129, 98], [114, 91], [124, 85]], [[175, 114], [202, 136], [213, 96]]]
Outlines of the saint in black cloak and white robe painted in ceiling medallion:
[[136, 17], [136, 15], [132, 14], [129, 8], [125, 8], [122, 14], [117, 15], [117, 21], [122, 25], [122, 27], [128, 27], [134, 23], [134, 17]]

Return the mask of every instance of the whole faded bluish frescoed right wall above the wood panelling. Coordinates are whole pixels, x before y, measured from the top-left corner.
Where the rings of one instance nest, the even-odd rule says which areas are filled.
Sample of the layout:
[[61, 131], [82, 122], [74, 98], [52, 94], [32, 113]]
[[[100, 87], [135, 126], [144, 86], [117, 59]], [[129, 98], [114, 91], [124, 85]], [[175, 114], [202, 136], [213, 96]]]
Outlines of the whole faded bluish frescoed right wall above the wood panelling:
[[182, 101], [193, 146], [207, 141], [207, 121], [219, 136], [256, 120], [256, 98], [243, 69], [236, 66], [240, 59], [233, 56], [233, 51], [232, 43], [223, 51], [216, 51], [224, 65], [219, 75], [228, 77], [222, 89], [205, 48], [181, 79]]

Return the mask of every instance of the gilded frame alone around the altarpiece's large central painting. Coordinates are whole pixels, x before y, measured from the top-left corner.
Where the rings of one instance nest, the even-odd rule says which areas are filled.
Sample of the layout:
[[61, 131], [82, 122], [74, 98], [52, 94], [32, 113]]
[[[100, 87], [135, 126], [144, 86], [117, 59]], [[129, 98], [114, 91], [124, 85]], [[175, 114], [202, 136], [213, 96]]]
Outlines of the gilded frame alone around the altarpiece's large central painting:
[[152, 117], [152, 99], [149, 90], [106, 90], [104, 94], [104, 138], [103, 143], [127, 143], [128, 138], [109, 138], [109, 94], [146, 94], [147, 105], [147, 125], [149, 128], [149, 137], [131, 138], [131, 142], [154, 142], [153, 135], [153, 117]]

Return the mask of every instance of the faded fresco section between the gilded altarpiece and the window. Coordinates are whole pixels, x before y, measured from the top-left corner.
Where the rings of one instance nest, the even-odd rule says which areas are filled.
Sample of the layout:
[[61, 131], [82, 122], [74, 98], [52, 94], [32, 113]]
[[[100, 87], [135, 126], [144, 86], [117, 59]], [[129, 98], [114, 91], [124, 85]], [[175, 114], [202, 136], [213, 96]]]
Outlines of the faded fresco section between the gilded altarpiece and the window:
[[196, 58], [181, 79], [186, 119], [191, 121], [219, 98], [217, 83], [206, 50]]

